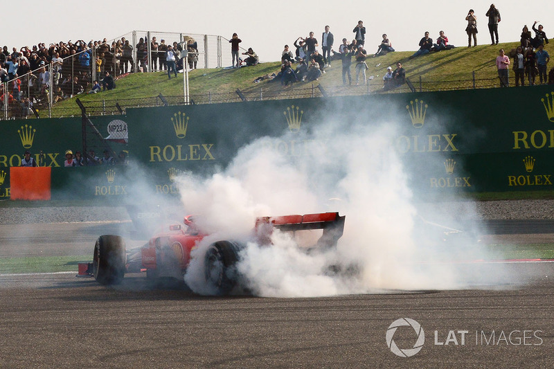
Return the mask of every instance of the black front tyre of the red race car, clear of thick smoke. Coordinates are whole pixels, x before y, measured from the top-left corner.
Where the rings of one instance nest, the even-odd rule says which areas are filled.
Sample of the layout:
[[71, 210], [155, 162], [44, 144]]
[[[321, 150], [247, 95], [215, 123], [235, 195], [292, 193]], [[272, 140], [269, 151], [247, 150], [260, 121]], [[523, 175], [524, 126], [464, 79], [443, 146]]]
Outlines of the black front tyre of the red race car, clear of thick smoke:
[[101, 235], [94, 245], [94, 279], [101, 285], [117, 285], [125, 276], [125, 241], [116, 235]]

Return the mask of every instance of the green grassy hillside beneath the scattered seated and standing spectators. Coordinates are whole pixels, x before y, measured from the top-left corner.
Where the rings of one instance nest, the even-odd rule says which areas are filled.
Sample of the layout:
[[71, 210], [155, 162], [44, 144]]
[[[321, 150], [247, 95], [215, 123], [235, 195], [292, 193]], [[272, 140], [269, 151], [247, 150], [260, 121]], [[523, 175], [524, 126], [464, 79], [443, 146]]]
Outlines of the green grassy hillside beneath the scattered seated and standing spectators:
[[[321, 96], [324, 91], [329, 96], [362, 95], [366, 93], [382, 93], [382, 77], [386, 67], [395, 69], [396, 62], [402, 62], [406, 77], [411, 80], [417, 91], [438, 91], [452, 89], [492, 88], [499, 87], [497, 69], [494, 61], [500, 48], [510, 51], [519, 42], [499, 44], [497, 46], [480, 45], [472, 48], [459, 46], [452, 50], [430, 53], [409, 60], [412, 51], [394, 52], [380, 57], [368, 56], [368, 85], [343, 86], [341, 78], [341, 62], [334, 60], [332, 66], [325, 69], [326, 73], [315, 82], [298, 82], [283, 87], [279, 81], [265, 79], [254, 82], [256, 78], [278, 73], [280, 62], [266, 62], [257, 66], [240, 69], [196, 69], [189, 73], [190, 98], [197, 104], [216, 102], [238, 102], [240, 97], [237, 89], [247, 100], [268, 100], [284, 98], [305, 98]], [[548, 53], [554, 55], [554, 46], [545, 47]], [[510, 58], [511, 60], [511, 58]], [[550, 69], [550, 68], [549, 68]], [[355, 82], [355, 67], [351, 67]], [[537, 77], [538, 82], [538, 77]], [[514, 74], [510, 69], [510, 86], [515, 83]], [[165, 72], [135, 73], [116, 81], [116, 89], [96, 94], [81, 94], [78, 96], [87, 111], [91, 114], [117, 114], [115, 104], [126, 107], [147, 107], [161, 105], [163, 96], [170, 105], [184, 103], [184, 79], [168, 80]], [[321, 85], [321, 89], [319, 89]], [[408, 92], [404, 86], [386, 93]], [[44, 113], [41, 114], [43, 116]], [[58, 102], [53, 116], [79, 115], [80, 109], [75, 104], [75, 98]]]

